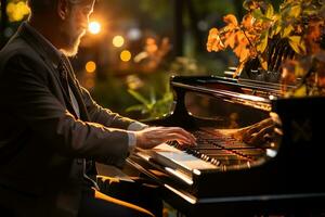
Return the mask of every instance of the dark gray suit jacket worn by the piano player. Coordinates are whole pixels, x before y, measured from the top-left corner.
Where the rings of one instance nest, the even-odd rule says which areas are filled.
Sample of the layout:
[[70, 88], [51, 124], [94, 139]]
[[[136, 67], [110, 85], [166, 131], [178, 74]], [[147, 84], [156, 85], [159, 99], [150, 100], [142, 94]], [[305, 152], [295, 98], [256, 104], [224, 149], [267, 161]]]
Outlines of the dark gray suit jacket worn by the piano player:
[[0, 51], [0, 206], [26, 216], [75, 216], [82, 158], [121, 166], [134, 122], [99, 106], [70, 75], [78, 119], [52, 52], [26, 24]]

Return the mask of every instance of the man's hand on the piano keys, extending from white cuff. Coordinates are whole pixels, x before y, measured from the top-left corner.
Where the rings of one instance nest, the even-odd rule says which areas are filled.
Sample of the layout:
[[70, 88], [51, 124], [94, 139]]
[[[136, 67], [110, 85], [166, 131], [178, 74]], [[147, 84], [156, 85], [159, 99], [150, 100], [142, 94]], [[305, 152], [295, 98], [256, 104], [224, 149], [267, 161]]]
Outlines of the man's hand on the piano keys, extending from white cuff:
[[195, 137], [180, 127], [148, 127], [135, 131], [136, 146], [152, 149], [167, 141], [177, 140], [180, 144], [195, 145]]

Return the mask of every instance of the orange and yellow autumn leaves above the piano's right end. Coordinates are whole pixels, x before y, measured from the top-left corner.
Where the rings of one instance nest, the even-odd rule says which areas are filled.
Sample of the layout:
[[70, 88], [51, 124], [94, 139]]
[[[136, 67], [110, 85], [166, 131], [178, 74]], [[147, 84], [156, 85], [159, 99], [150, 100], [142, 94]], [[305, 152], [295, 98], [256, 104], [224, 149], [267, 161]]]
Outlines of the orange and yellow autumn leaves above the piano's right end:
[[224, 27], [210, 29], [207, 50], [231, 48], [239, 59], [235, 76], [251, 59], [258, 59], [268, 72], [268, 44], [272, 39], [282, 39], [295, 51], [295, 58], [282, 66], [282, 81], [297, 87], [289, 95], [324, 94], [325, 1], [284, 0], [278, 12], [266, 0], [246, 0], [243, 7], [248, 11], [243, 21], [229, 14], [223, 18]]

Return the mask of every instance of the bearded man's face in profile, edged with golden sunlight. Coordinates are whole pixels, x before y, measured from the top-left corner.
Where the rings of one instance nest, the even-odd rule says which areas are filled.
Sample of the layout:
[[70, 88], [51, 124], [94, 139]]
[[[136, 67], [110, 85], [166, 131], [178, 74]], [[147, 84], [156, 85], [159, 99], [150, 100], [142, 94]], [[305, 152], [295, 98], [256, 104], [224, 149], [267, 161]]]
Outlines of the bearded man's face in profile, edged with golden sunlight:
[[81, 0], [78, 3], [69, 3], [69, 13], [62, 25], [64, 48], [62, 51], [67, 56], [76, 55], [81, 37], [86, 34], [89, 16], [93, 11], [94, 0]]

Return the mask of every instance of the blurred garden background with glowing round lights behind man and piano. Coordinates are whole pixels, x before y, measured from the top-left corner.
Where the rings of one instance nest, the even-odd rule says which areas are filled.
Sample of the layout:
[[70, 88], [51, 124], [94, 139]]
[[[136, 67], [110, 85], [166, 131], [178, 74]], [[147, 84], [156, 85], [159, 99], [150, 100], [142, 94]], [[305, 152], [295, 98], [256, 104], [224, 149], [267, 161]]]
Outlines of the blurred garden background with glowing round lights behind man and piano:
[[[99, 104], [136, 119], [170, 110], [172, 75], [223, 75], [232, 52], [209, 53], [211, 27], [244, 0], [98, 0], [75, 73]], [[26, 0], [1, 0], [0, 48], [28, 17]]]

